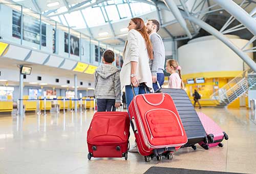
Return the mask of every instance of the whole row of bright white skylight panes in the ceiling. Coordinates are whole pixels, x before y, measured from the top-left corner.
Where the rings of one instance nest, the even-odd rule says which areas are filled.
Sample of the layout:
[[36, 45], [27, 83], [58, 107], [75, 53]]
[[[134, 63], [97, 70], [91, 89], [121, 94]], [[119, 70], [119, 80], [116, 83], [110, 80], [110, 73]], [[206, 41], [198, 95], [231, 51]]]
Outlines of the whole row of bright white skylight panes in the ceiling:
[[[134, 16], [138, 16], [144, 13], [156, 10], [155, 6], [146, 3], [130, 1], [131, 10], [129, 5], [125, 0], [111, 0], [108, 2], [103, 2], [93, 7], [88, 7], [82, 10], [84, 18], [86, 18], [89, 27], [95, 27], [108, 22], [108, 17], [106, 16], [103, 5], [105, 6], [106, 12], [108, 13], [110, 21], [118, 21], [121, 18], [131, 17], [131, 10]], [[118, 8], [118, 10], [117, 10]], [[66, 7], [61, 7], [57, 10], [57, 13], [66, 12], [68, 9]], [[120, 17], [119, 17], [119, 14]], [[92, 17], [93, 16], [93, 17]], [[67, 21], [66, 21], [66, 19]], [[51, 17], [53, 20], [62, 22], [63, 25], [73, 27], [74, 29], [86, 28], [86, 23], [82, 18], [79, 11], [74, 11], [72, 13], [66, 13], [65, 17], [63, 15]]]

